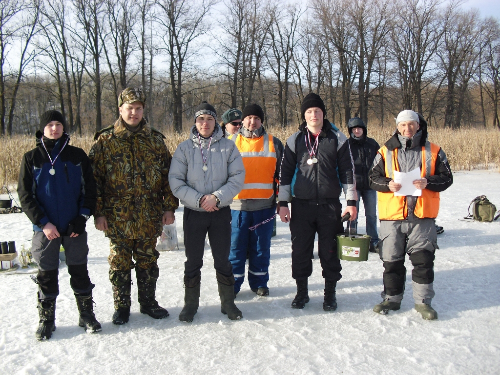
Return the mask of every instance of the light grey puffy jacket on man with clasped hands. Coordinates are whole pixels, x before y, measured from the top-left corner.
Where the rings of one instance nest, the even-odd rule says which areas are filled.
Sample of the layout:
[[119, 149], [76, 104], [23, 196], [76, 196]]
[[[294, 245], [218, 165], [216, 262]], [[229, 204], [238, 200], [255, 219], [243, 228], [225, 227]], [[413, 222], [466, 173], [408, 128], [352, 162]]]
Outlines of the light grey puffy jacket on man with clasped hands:
[[184, 206], [203, 211], [199, 200], [205, 194], [213, 194], [220, 200], [219, 207], [224, 207], [243, 187], [245, 169], [241, 155], [234, 142], [222, 134], [220, 126], [215, 124], [209, 150], [209, 139], [201, 138], [203, 153], [208, 152], [206, 171], [202, 169], [196, 126], [191, 128], [189, 138], [181, 142], [173, 153], [168, 182], [173, 195]]

